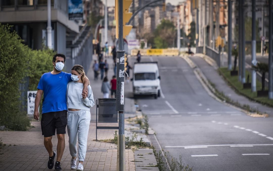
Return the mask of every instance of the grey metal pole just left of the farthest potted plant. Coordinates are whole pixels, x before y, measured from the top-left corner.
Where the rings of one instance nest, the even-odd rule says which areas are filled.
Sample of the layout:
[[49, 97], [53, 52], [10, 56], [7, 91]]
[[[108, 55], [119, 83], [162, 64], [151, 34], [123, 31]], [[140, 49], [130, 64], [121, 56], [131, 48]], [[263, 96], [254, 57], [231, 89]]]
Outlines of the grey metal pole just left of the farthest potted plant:
[[228, 0], [228, 70], [232, 69], [231, 56], [232, 56], [232, 1]]

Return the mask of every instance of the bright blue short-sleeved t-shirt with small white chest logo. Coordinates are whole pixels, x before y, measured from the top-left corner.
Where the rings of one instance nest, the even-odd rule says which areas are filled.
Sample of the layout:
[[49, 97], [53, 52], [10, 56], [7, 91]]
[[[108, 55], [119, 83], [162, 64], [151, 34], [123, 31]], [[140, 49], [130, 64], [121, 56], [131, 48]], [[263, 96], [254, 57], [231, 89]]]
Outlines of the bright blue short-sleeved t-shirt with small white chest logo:
[[44, 91], [42, 113], [67, 110], [66, 88], [70, 81], [71, 74], [63, 71], [59, 74], [47, 72], [42, 75], [37, 87]]

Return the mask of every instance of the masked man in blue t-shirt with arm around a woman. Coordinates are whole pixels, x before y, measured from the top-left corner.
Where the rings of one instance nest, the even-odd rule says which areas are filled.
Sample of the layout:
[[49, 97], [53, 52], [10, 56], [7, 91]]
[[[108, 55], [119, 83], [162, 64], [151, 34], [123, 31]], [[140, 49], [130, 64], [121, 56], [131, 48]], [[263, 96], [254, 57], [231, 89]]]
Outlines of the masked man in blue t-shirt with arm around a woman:
[[[66, 56], [63, 54], [56, 54], [53, 56], [52, 64], [53, 71], [44, 73], [40, 78], [38, 84], [38, 91], [35, 98], [34, 119], [39, 119], [38, 107], [41, 102], [42, 94], [43, 107], [41, 118], [41, 130], [44, 135], [44, 147], [48, 151], [49, 160], [48, 168], [52, 169], [56, 152], [53, 151], [52, 136], [57, 132], [58, 145], [57, 145], [57, 161], [55, 163], [55, 170], [62, 170], [60, 161], [63, 156], [67, 125], [67, 98], [66, 89], [67, 83], [72, 81], [71, 74], [63, 72], [64, 62]], [[82, 94], [88, 93], [89, 80], [84, 80], [84, 89]]]

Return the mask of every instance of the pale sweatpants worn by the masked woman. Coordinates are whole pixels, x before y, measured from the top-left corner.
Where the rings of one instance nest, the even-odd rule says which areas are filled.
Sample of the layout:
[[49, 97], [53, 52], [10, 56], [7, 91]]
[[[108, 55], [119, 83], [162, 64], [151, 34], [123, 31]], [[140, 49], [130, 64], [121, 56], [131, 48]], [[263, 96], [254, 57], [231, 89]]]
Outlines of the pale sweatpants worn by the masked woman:
[[68, 111], [67, 114], [67, 132], [69, 136], [69, 150], [72, 157], [77, 155], [77, 136], [79, 144], [78, 158], [84, 161], [87, 137], [89, 131], [91, 115], [88, 110]]

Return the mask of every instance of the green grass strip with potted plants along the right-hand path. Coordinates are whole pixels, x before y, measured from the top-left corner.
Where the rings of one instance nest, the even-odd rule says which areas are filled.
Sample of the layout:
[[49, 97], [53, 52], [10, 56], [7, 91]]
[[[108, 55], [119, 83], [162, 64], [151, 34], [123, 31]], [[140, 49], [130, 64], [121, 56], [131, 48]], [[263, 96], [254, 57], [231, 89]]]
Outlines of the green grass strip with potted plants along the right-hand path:
[[[263, 105], [273, 107], [273, 100], [268, 99], [268, 97], [257, 97], [257, 92], [252, 92], [251, 88], [244, 89], [243, 84], [238, 81], [238, 77], [231, 76], [230, 71], [227, 68], [218, 69], [219, 73], [225, 78], [225, 80], [232, 86], [237, 93], [244, 95], [245, 97], [262, 103]], [[249, 74], [249, 80], [251, 80], [251, 74], [248, 70], [246, 70], [246, 76]], [[256, 81], [256, 89], [262, 90], [262, 83], [260, 81]]]

